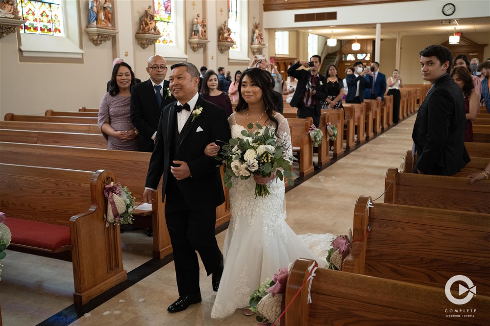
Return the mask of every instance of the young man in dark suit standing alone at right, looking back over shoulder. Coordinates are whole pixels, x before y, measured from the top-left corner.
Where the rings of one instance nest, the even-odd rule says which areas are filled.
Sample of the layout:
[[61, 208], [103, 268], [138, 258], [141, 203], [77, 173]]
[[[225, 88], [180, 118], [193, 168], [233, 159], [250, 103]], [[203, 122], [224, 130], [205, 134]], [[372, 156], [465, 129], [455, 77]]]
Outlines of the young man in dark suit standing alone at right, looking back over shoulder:
[[449, 76], [451, 61], [447, 47], [432, 45], [420, 51], [422, 77], [432, 87], [418, 109], [412, 133], [418, 156], [414, 173], [450, 176], [470, 161], [463, 93]]

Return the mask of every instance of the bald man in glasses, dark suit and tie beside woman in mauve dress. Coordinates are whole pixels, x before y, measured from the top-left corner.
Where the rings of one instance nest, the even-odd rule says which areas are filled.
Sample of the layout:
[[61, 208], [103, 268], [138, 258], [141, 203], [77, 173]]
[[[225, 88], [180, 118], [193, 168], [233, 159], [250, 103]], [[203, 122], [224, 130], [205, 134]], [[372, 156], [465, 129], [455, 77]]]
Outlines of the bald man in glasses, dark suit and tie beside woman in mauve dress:
[[[156, 128], [162, 109], [175, 101], [165, 80], [167, 62], [159, 55], [148, 59], [147, 72], [150, 78], [131, 87], [129, 115], [131, 122], [140, 134], [139, 148], [142, 152], [152, 152]], [[157, 91], [158, 90], [158, 91]]]

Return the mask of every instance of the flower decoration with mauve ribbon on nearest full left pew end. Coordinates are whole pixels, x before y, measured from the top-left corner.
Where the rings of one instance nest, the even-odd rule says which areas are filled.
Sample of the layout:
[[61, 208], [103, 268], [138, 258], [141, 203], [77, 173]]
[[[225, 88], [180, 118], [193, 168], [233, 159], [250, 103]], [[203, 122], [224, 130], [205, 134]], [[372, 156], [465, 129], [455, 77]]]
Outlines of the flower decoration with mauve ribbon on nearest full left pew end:
[[104, 214], [106, 227], [111, 224], [133, 224], [133, 206], [136, 201], [126, 186], [111, 182], [105, 185], [104, 196], [107, 198], [107, 214]]

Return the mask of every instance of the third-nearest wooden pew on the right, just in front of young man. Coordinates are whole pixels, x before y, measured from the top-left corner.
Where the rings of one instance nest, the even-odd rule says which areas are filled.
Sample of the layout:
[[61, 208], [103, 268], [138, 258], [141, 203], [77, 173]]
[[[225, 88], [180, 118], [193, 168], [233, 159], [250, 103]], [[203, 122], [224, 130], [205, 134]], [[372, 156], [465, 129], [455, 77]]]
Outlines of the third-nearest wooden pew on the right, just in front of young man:
[[388, 204], [490, 213], [490, 180], [472, 185], [467, 178], [399, 173], [389, 168], [385, 177]]

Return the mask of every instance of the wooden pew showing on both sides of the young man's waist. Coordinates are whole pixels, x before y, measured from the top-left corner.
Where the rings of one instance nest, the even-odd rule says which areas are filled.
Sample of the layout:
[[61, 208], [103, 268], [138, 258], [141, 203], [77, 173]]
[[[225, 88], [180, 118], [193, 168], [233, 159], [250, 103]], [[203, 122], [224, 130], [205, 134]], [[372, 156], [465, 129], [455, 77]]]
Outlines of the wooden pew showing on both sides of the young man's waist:
[[[486, 145], [488, 143], [472, 143], [472, 142], [465, 142], [466, 144], [483, 144]], [[488, 144], [490, 146], [490, 144]], [[483, 152], [486, 148], [489, 148], [489, 146], [472, 146], [468, 145], [470, 150], [468, 150], [468, 154], [471, 158], [471, 161], [467, 163], [460, 172], [456, 173], [455, 175], [452, 175], [452, 177], [467, 177], [470, 174], [480, 172], [483, 170], [487, 164], [490, 161], [490, 152], [487, 151], [485, 154], [475, 154], [479, 152]], [[471, 151], [471, 154], [470, 154]], [[478, 157], [478, 155], [481, 155], [483, 157]], [[412, 158], [412, 151], [408, 150], [405, 153], [405, 163], [404, 163], [404, 172], [405, 173], [413, 173], [414, 171], [414, 166], [415, 163], [417, 162], [417, 153], [415, 153], [415, 156]]]

